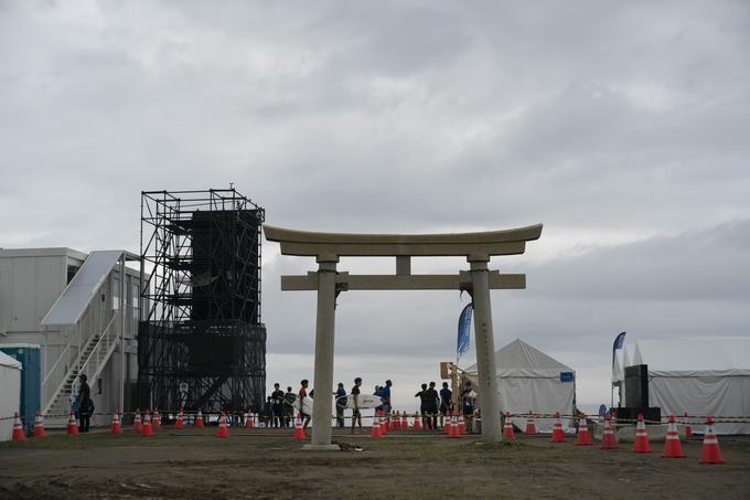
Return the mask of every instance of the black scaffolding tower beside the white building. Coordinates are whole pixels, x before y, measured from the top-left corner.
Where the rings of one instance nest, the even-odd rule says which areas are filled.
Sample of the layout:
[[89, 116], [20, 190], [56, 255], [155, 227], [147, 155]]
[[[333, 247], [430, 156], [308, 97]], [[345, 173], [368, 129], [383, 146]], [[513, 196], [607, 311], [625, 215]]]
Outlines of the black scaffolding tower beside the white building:
[[141, 407], [262, 407], [264, 220], [234, 189], [141, 192]]

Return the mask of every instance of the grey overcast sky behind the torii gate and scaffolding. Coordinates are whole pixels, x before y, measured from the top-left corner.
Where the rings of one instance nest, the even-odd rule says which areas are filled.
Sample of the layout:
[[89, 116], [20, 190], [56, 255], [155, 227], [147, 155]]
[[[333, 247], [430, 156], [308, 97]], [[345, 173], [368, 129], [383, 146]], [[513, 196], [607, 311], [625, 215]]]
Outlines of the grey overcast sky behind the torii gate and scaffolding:
[[[528, 283], [493, 291], [496, 347], [608, 402], [622, 330], [750, 332], [750, 3], [655, 3], [0, 0], [0, 246], [138, 251], [141, 190], [229, 182], [292, 228], [540, 222], [493, 258]], [[269, 384], [312, 380], [314, 294], [279, 291], [312, 269], [264, 245]], [[411, 408], [467, 300], [343, 294], [336, 381]]]

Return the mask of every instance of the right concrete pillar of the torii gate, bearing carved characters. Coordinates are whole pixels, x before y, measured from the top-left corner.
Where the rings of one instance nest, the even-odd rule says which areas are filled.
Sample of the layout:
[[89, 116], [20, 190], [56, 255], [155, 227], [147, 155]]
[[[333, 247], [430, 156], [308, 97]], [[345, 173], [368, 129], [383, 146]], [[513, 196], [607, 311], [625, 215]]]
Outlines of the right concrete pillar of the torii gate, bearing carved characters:
[[474, 342], [476, 344], [476, 377], [482, 408], [482, 439], [488, 443], [503, 439], [497, 401], [497, 371], [495, 369], [495, 340], [492, 331], [492, 305], [488, 255], [471, 255], [472, 299], [474, 302]]

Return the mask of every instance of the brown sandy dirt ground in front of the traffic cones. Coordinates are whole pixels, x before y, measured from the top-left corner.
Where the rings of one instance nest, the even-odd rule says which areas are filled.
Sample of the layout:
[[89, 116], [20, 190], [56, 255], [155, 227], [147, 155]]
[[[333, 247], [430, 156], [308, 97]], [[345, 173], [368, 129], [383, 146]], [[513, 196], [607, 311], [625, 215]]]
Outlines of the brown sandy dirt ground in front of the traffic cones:
[[683, 443], [688, 458], [550, 444], [518, 436], [481, 444], [476, 436], [334, 433], [346, 448], [301, 451], [291, 430], [215, 427], [132, 430], [0, 444], [0, 499], [170, 498], [750, 498], [750, 436], [720, 438], [727, 461], [698, 465], [699, 439]]

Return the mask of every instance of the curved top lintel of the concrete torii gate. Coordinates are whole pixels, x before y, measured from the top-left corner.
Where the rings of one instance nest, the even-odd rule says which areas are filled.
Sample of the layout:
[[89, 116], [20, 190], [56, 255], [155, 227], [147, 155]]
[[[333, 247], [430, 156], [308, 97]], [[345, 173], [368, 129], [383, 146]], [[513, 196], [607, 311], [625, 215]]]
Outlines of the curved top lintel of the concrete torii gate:
[[442, 234], [353, 234], [294, 231], [264, 225], [266, 240], [279, 242], [282, 255], [298, 256], [471, 256], [523, 254], [538, 240], [542, 224], [503, 231]]

